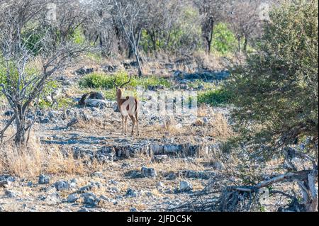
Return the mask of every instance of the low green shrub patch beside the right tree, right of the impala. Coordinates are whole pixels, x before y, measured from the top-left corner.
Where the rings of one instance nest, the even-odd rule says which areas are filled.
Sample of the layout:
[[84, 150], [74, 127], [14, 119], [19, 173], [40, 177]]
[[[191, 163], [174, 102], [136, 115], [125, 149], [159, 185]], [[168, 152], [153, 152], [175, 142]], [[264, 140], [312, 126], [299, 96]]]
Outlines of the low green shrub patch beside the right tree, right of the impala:
[[207, 103], [211, 106], [223, 106], [230, 103], [230, 93], [221, 89], [211, 89], [198, 94], [198, 103]]

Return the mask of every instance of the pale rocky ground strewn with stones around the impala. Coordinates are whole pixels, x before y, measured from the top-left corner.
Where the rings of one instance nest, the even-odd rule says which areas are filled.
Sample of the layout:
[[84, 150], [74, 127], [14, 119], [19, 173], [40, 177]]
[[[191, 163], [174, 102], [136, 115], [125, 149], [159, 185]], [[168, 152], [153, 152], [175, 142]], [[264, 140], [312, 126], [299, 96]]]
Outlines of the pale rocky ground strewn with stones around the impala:
[[[64, 78], [63, 89], [72, 87], [83, 74], [86, 69]], [[80, 96], [72, 98], [76, 103]], [[30, 113], [29, 119], [37, 118], [32, 136], [38, 149], [58, 149], [78, 159], [83, 169], [69, 174], [58, 174], [58, 170], [52, 174], [50, 169], [33, 176], [0, 174], [0, 211], [174, 208], [223, 169], [213, 156], [220, 152], [220, 141], [230, 135], [228, 113], [228, 108], [206, 106], [199, 109], [196, 120], [142, 114], [140, 136], [122, 134], [115, 101]], [[12, 112], [1, 106], [0, 114], [5, 123]]]

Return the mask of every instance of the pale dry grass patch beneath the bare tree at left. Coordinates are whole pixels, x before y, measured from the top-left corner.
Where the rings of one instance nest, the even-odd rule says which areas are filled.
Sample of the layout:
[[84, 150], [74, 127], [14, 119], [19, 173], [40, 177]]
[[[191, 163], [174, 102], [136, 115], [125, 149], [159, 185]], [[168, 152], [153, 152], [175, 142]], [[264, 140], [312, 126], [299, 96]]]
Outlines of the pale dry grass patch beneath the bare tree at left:
[[0, 145], [0, 173], [28, 177], [39, 174], [84, 174], [82, 162], [65, 156], [59, 147], [40, 143], [30, 135], [28, 146], [16, 147], [12, 141]]

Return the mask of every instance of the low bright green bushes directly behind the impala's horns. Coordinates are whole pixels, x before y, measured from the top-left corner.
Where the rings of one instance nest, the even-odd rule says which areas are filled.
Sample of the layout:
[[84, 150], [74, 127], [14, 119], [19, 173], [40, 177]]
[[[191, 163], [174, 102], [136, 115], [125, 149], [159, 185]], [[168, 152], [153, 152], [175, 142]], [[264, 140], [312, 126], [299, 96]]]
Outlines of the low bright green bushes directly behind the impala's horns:
[[[83, 88], [94, 88], [94, 89], [114, 89], [113, 81], [116, 79], [116, 84], [123, 84], [125, 81], [128, 81], [128, 74], [126, 72], [118, 72], [115, 75], [108, 74], [98, 74], [92, 73], [84, 77], [79, 85]], [[147, 86], [156, 86], [162, 85], [164, 87], [169, 87], [171, 84], [166, 79], [162, 79], [159, 77], [132, 77], [130, 84], [128, 87], [137, 87], [143, 86], [147, 88]]]

